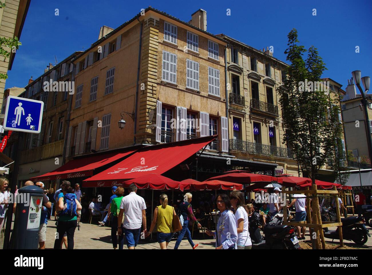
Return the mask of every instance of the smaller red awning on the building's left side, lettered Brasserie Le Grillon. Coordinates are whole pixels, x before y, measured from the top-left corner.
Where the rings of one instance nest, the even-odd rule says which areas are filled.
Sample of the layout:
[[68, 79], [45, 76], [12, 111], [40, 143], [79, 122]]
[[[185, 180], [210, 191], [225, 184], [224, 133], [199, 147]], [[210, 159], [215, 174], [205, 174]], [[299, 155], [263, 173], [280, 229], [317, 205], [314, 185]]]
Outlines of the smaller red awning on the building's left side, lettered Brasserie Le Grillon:
[[86, 158], [73, 159], [60, 168], [38, 177], [32, 177], [32, 181], [58, 180], [67, 178], [79, 178], [93, 175], [93, 170], [109, 164], [133, 153], [136, 150], [122, 153], [112, 152], [102, 155], [92, 155]]

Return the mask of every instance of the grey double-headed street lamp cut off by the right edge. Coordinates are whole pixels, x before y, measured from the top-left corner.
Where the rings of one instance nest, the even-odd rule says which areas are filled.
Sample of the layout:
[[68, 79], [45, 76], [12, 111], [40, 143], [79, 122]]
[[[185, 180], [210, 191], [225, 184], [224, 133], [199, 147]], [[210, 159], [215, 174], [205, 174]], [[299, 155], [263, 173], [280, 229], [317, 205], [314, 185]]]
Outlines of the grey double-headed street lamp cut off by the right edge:
[[[356, 70], [356, 71], [353, 71], [352, 72], [352, 75], [353, 75], [353, 79], [355, 81], [355, 84], [356, 86], [358, 87], [359, 91], [360, 91], [360, 94], [362, 94], [362, 104], [363, 104], [363, 109], [364, 109], [364, 117], [365, 117], [365, 121], [366, 121], [366, 128], [367, 128], [367, 144], [368, 144], [368, 152], [369, 152], [369, 161], [371, 163], [371, 167], [372, 167], [372, 139], [371, 139], [371, 128], [369, 127], [369, 118], [368, 118], [368, 109], [367, 109], [367, 99], [371, 100], [371, 96], [367, 96], [367, 93], [369, 91], [369, 84], [370, 84], [370, 80], [371, 78], [369, 76], [364, 76], [364, 77], [360, 77], [361, 76], [361, 72], [359, 70]], [[362, 80], [362, 84], [363, 84], [363, 87], [364, 87], [364, 91], [362, 89], [362, 87], [360, 86], [360, 80]]]

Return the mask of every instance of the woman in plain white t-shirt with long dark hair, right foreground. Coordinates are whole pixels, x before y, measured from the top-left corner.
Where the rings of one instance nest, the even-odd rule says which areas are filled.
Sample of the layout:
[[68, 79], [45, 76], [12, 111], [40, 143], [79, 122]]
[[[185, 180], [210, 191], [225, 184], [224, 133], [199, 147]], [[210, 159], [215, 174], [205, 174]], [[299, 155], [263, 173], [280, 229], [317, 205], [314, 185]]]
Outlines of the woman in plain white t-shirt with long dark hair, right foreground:
[[238, 240], [236, 242], [238, 249], [251, 249], [252, 241], [248, 231], [248, 214], [244, 203], [243, 193], [232, 191], [230, 193], [230, 202], [235, 210], [236, 227]]

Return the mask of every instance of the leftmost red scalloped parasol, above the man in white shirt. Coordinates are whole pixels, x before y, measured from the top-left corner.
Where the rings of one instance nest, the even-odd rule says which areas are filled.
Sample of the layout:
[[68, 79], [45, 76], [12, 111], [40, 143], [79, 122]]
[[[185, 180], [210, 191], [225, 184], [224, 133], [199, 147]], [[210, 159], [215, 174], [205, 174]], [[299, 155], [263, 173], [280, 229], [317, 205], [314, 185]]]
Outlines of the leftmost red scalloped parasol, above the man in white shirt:
[[183, 191], [183, 186], [179, 181], [161, 176], [159, 174], [146, 174], [144, 176], [134, 178], [132, 180], [124, 181], [124, 187], [128, 188], [130, 184], [134, 183], [138, 189], [153, 189], [153, 190], [176, 190]]

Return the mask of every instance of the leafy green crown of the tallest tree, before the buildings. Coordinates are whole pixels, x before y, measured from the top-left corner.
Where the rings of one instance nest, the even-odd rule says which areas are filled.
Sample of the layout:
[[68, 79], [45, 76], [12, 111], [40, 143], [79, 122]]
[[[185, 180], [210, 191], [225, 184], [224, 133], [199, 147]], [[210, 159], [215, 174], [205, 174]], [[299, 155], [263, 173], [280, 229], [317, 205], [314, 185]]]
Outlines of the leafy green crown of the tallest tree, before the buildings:
[[[306, 171], [315, 184], [315, 174], [333, 154], [334, 137], [339, 135], [335, 129], [340, 123], [335, 123], [332, 117], [326, 119], [329, 105], [337, 106], [337, 103], [329, 97], [329, 87], [317, 85], [326, 70], [317, 48], [311, 46], [306, 50], [298, 43], [297, 30], [292, 29], [284, 52], [291, 65], [279, 87], [279, 102], [286, 127], [285, 140], [293, 147], [301, 170]], [[306, 52], [307, 59], [304, 60]], [[337, 107], [330, 111], [335, 113]]]

